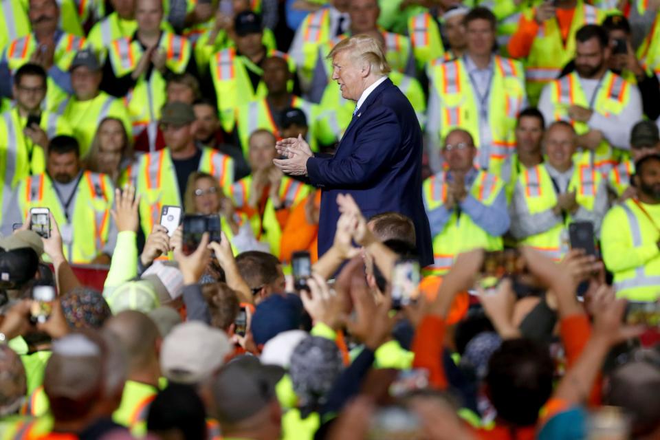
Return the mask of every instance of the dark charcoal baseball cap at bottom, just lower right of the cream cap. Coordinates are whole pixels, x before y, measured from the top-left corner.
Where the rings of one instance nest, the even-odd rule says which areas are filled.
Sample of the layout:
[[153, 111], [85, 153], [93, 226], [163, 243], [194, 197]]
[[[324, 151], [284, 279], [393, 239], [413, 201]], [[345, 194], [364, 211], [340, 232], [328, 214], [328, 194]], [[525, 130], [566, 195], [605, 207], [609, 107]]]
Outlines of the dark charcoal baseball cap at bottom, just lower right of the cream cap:
[[216, 418], [237, 423], [252, 417], [277, 398], [275, 386], [284, 375], [276, 365], [263, 365], [252, 355], [234, 358], [221, 369], [213, 384]]

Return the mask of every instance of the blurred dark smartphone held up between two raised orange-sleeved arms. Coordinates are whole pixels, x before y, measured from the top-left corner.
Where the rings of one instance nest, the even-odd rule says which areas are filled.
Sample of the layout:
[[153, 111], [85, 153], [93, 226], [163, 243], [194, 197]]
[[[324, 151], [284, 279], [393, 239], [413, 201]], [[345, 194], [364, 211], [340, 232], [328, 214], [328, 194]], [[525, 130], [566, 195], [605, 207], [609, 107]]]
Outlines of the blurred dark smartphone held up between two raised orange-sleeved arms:
[[529, 272], [525, 257], [518, 249], [484, 252], [478, 286], [484, 290], [494, 289], [505, 277], [511, 280], [511, 287], [518, 298], [540, 296], [544, 292], [538, 278]]

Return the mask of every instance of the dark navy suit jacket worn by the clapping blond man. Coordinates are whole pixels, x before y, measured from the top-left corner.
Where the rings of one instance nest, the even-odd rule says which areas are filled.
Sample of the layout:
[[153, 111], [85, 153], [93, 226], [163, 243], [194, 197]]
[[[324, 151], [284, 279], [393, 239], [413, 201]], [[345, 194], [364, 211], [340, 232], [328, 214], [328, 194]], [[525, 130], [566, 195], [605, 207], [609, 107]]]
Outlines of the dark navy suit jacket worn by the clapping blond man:
[[353, 116], [332, 157], [311, 157], [307, 173], [322, 189], [318, 254], [332, 245], [340, 213], [338, 194], [350, 194], [364, 217], [400, 212], [415, 223], [422, 266], [433, 262], [431, 232], [421, 197], [422, 135], [408, 98], [389, 79]]

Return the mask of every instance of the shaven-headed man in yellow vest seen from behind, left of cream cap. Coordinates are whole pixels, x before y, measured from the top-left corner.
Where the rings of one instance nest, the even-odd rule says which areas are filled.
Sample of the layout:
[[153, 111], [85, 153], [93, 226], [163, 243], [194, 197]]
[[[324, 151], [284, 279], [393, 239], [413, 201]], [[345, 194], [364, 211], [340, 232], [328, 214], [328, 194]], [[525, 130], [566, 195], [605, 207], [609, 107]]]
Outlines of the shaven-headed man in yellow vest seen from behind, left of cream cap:
[[122, 403], [113, 419], [133, 434], [143, 433], [148, 404], [158, 393], [160, 333], [151, 318], [134, 310], [113, 316], [104, 328], [118, 338], [129, 365]]

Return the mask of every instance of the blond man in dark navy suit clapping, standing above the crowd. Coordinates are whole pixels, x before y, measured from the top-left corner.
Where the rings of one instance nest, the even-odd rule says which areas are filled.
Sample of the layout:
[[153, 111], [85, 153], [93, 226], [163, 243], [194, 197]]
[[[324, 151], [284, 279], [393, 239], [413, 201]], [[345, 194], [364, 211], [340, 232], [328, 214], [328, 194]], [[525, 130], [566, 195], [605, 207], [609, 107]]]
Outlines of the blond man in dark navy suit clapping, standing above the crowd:
[[342, 96], [357, 102], [335, 155], [314, 156], [298, 137], [278, 142], [278, 151], [288, 158], [274, 161], [285, 173], [307, 175], [322, 189], [318, 253], [333, 242], [340, 217], [337, 195], [350, 194], [367, 219], [388, 211], [410, 217], [420, 263], [429, 265], [433, 252], [421, 196], [422, 135], [415, 110], [387, 78], [390, 67], [373, 37], [345, 39], [328, 57]]

